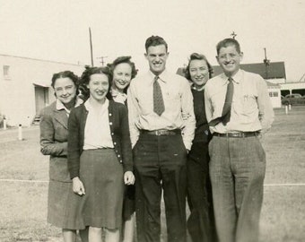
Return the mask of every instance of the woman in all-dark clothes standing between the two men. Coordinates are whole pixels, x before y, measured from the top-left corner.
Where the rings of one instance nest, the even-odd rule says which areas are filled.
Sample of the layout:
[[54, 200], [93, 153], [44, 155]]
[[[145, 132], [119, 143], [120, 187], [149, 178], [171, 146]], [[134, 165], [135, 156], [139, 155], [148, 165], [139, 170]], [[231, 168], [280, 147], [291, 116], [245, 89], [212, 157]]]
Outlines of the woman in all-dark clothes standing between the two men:
[[208, 143], [211, 138], [205, 117], [205, 83], [212, 77], [212, 66], [204, 55], [189, 57], [186, 77], [191, 85], [196, 117], [195, 137], [187, 155], [187, 202], [190, 216], [187, 229], [193, 242], [215, 242], [212, 186], [209, 177]]

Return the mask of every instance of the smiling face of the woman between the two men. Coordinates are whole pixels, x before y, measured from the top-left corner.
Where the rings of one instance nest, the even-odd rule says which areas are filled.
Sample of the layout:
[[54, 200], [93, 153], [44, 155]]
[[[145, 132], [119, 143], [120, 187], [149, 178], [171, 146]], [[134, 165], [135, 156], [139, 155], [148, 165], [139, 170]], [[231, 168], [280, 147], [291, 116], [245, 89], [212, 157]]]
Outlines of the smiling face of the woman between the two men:
[[196, 88], [202, 88], [209, 80], [209, 68], [205, 60], [192, 60], [189, 63], [188, 72]]

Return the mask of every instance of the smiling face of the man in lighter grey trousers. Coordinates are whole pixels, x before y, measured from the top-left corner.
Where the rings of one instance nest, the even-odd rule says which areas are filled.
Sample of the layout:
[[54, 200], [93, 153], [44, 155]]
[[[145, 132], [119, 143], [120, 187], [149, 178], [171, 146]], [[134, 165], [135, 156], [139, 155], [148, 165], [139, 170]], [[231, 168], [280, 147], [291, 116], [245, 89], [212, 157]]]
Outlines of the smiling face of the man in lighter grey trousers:
[[239, 71], [241, 60], [242, 52], [239, 53], [234, 45], [220, 48], [217, 56], [218, 64], [222, 66], [223, 72], [228, 77]]

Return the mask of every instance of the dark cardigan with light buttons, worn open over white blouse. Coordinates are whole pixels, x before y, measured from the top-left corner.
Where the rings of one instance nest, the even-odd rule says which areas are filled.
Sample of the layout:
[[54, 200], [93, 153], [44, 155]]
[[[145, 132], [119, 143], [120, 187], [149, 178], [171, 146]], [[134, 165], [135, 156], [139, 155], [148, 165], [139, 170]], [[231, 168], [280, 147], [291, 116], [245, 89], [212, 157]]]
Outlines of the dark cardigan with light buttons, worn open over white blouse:
[[[79, 177], [80, 157], [83, 152], [84, 127], [88, 110], [84, 105], [73, 108], [68, 121], [68, 169], [70, 177]], [[133, 158], [126, 107], [109, 100], [109, 127], [118, 162], [124, 171], [133, 170]]]

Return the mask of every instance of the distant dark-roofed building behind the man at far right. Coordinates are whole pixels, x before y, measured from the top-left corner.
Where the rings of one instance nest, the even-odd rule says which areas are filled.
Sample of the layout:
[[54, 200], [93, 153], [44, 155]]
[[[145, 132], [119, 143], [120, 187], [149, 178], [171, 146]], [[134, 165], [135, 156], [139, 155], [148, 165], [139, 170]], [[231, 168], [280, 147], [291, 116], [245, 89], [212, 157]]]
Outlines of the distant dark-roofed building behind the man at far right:
[[[284, 62], [273, 62], [266, 67], [264, 63], [241, 64], [240, 68], [261, 75], [268, 86], [269, 96], [274, 108], [281, 108], [281, 85], [286, 80]], [[179, 68], [177, 73], [184, 76], [185, 68]], [[213, 76], [222, 73], [219, 65], [213, 65]]]

